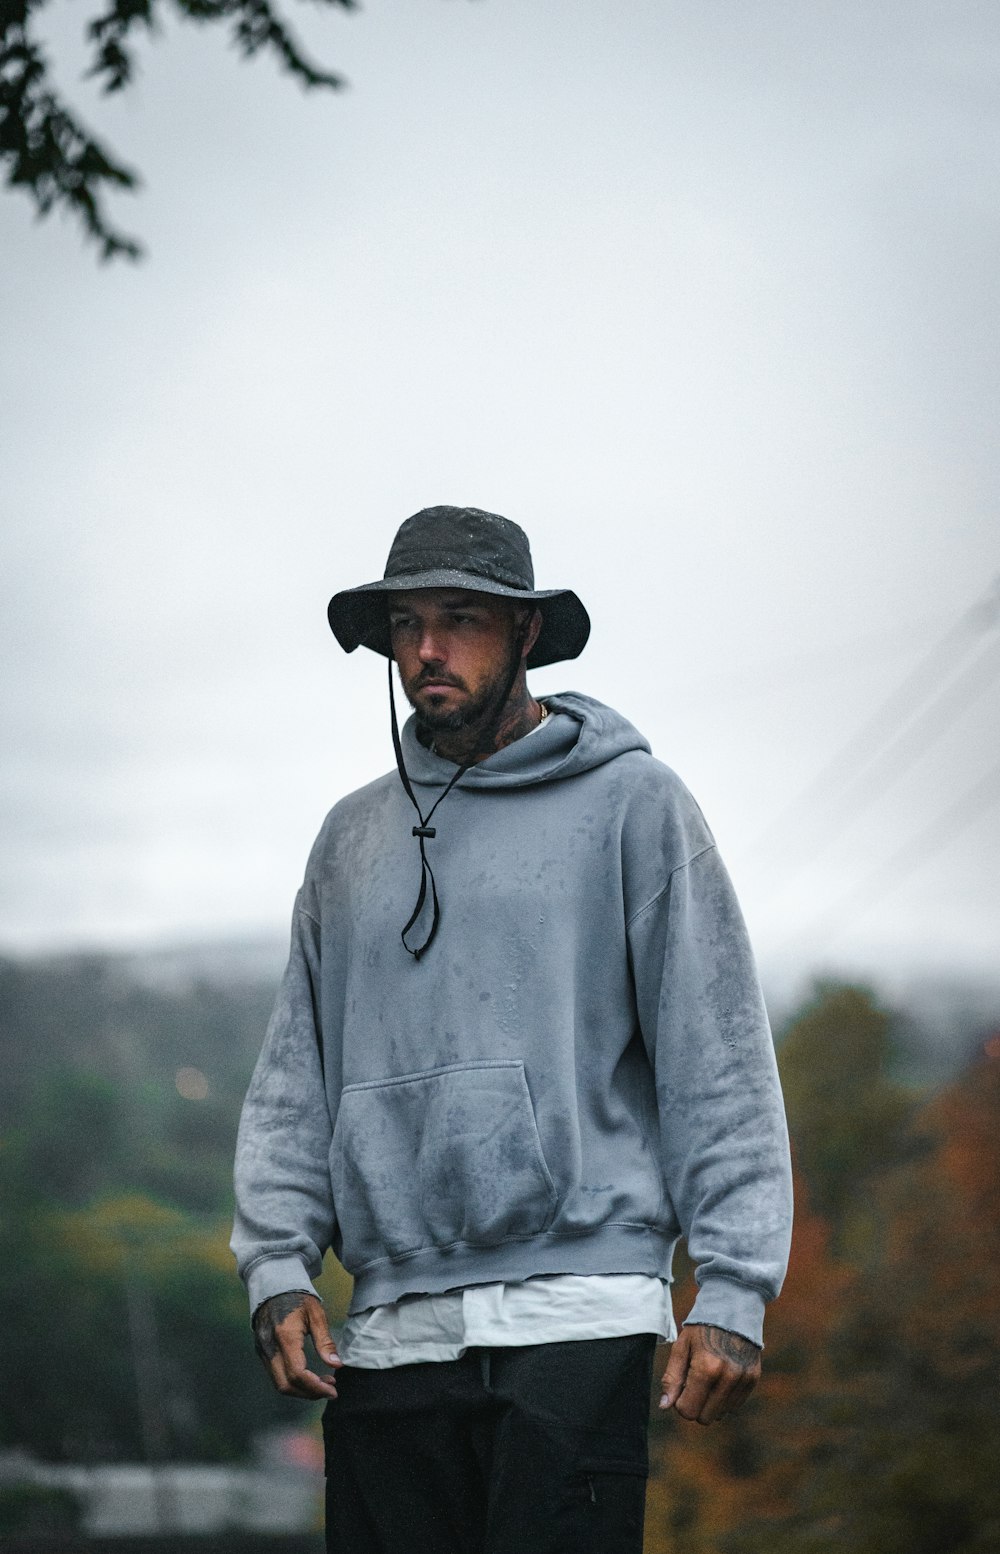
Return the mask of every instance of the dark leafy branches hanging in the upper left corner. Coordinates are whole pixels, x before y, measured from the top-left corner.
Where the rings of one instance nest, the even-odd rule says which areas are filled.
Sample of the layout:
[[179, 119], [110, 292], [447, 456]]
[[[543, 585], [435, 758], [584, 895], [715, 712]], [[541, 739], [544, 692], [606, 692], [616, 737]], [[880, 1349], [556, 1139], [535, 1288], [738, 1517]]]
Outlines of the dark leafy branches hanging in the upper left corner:
[[[356, 0], [321, 0], [354, 9]], [[40, 214], [71, 211], [106, 260], [138, 258], [140, 244], [110, 222], [102, 196], [132, 190], [137, 174], [102, 146], [56, 90], [37, 37], [45, 0], [0, 0], [0, 160], [6, 182], [26, 190]], [[267, 51], [303, 87], [342, 87], [343, 78], [312, 64], [270, 0], [107, 0], [87, 23], [89, 76], [121, 92], [135, 75], [135, 36], [151, 33], [166, 9], [189, 22], [227, 22], [245, 56]]]

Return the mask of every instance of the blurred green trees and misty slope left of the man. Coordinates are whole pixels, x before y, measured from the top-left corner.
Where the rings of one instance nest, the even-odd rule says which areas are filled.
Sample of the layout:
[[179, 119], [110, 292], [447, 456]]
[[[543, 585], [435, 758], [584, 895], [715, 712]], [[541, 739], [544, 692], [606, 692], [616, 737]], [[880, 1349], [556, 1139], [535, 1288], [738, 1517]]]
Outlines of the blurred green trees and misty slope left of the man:
[[[228, 1251], [272, 999], [269, 979], [149, 985], [98, 956], [0, 963], [0, 1445], [141, 1461], [151, 1344], [168, 1456], [239, 1459], [303, 1419], [256, 1361]], [[179, 1092], [185, 1068], [203, 1099]], [[343, 1270], [325, 1284], [343, 1315]]]

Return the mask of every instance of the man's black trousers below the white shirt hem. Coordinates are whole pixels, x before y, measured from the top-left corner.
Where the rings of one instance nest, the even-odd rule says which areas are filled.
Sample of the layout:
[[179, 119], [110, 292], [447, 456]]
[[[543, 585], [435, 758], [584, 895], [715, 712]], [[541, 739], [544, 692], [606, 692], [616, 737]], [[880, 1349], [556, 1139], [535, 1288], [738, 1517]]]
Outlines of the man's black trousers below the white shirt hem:
[[337, 1374], [328, 1554], [641, 1554], [655, 1338]]

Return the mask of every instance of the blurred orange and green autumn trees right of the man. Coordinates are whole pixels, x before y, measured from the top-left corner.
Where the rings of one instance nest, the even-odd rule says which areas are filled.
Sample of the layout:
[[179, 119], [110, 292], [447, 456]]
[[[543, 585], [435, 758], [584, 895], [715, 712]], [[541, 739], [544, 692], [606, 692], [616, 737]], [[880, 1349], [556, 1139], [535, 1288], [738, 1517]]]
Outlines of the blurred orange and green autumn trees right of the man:
[[646, 1554], [1000, 1548], [1000, 1041], [922, 1097], [890, 1037], [834, 985], [780, 1046], [797, 1223], [764, 1382], [710, 1430], [654, 1422]]

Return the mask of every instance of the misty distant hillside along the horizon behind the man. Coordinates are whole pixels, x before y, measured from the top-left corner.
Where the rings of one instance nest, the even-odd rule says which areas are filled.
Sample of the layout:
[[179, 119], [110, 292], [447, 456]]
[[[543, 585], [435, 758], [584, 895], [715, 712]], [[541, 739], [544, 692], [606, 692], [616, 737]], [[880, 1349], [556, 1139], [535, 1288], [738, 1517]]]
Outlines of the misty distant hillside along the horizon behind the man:
[[[284, 956], [284, 940], [266, 939], [0, 959], [0, 1125], [51, 1068], [171, 1094], [177, 1071], [193, 1068], [231, 1113], [259, 1051]], [[1000, 976], [896, 968], [862, 981], [896, 1015], [901, 1074], [911, 1083], [944, 1083], [1000, 1029]], [[789, 971], [766, 971], [764, 982], [780, 1033], [811, 982]]]

